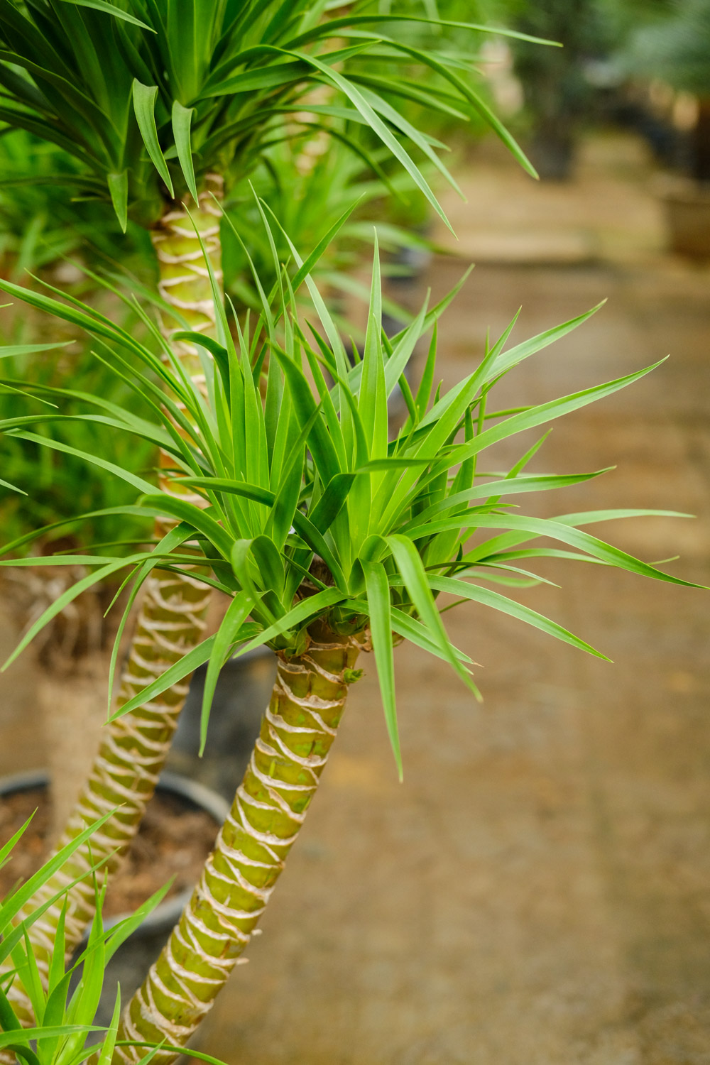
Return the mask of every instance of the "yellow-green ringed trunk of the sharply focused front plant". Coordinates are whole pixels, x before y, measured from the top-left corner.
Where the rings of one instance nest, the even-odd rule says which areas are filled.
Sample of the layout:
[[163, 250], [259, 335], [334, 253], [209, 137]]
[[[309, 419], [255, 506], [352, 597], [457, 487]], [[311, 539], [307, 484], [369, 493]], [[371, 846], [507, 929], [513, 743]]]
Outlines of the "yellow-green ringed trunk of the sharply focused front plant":
[[[316, 622], [302, 655], [279, 655], [271, 701], [229, 817], [179, 924], [123, 1012], [119, 1039], [183, 1046], [212, 1007], [303, 823], [365, 645], [362, 633], [340, 636]], [[117, 1048], [114, 1065], [144, 1053]]]

